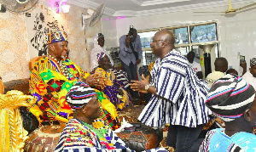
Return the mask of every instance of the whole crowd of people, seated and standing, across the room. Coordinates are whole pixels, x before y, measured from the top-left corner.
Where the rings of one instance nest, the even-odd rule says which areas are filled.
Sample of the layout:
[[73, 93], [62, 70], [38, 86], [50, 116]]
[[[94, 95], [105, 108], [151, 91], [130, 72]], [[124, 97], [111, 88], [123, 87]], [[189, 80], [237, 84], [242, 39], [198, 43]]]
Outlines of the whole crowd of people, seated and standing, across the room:
[[[169, 151], [256, 150], [256, 58], [241, 77], [235, 69], [228, 70], [227, 59], [218, 58], [204, 81], [195, 53], [185, 58], [175, 50], [173, 33], [158, 31], [150, 43], [158, 58], [150, 65], [150, 75], [139, 81], [142, 46], [133, 27], [119, 39], [122, 70], [114, 69], [102, 33], [94, 38], [90, 73], [67, 56], [65, 31], [50, 31], [46, 42], [48, 54], [32, 68], [29, 91], [37, 101], [28, 110], [39, 125], [67, 123], [55, 151], [134, 151], [113, 131], [121, 124], [118, 111], [133, 105], [138, 93], [150, 94], [139, 121], [153, 128], [170, 124]], [[241, 66], [246, 69], [246, 63]], [[225, 128], [200, 138], [202, 128], [215, 117], [224, 121]]]

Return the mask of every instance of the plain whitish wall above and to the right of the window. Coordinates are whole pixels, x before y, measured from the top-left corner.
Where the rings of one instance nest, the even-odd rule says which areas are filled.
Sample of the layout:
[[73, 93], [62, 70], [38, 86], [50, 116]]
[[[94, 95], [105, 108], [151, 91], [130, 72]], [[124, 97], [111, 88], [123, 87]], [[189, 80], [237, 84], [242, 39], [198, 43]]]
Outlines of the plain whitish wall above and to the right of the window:
[[[241, 6], [234, 5], [234, 8]], [[226, 7], [207, 8], [194, 11], [224, 11]], [[181, 10], [178, 10], [181, 11]], [[239, 70], [241, 75], [241, 67], [239, 66], [238, 53], [245, 55], [247, 60], [247, 69], [249, 68], [249, 59], [256, 57], [254, 49], [256, 46], [256, 9], [249, 9], [235, 15], [224, 14], [195, 14], [193, 11], [177, 12], [169, 14], [154, 14], [141, 17], [132, 17], [119, 19], [116, 21], [116, 36], [109, 35], [109, 42], [116, 44], [113, 47], [119, 46], [119, 37], [127, 34], [129, 25], [134, 25], [137, 30], [145, 30], [166, 26], [187, 25], [192, 23], [199, 23], [202, 21], [218, 20], [218, 33], [220, 41], [221, 56], [228, 59], [229, 65], [234, 69]], [[102, 21], [102, 26], [109, 25], [108, 22], [113, 20]], [[108, 28], [109, 31], [109, 28]], [[105, 32], [103, 28], [103, 32]], [[107, 32], [108, 33], [108, 32]], [[106, 39], [108, 42], [108, 39]]]

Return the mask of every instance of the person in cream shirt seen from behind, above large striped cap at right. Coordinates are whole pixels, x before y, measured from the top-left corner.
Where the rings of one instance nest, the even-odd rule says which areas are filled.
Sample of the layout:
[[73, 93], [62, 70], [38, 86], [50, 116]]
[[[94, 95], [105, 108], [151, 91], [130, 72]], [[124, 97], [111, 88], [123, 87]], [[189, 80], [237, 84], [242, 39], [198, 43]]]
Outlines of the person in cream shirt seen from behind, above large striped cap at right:
[[210, 87], [212, 87], [212, 84], [219, 78], [224, 76], [224, 72], [228, 70], [228, 61], [225, 58], [215, 59], [214, 66], [215, 70], [213, 70], [213, 72], [210, 73], [206, 78], [206, 81]]

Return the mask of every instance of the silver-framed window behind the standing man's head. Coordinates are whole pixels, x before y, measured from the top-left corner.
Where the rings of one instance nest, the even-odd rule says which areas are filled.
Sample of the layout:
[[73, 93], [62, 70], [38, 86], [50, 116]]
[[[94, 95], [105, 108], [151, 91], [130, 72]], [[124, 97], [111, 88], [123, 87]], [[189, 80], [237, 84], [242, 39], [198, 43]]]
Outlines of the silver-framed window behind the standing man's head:
[[[150, 42], [152, 41], [154, 34], [160, 30], [169, 30], [172, 31], [175, 37], [175, 49], [180, 51], [183, 56], [187, 56], [189, 51], [195, 52], [195, 58], [200, 60], [200, 48], [201, 45], [214, 44], [214, 50], [212, 54], [216, 55], [216, 58], [219, 57], [218, 51], [218, 30], [217, 30], [217, 21], [198, 23], [192, 25], [180, 25], [175, 27], [165, 27], [152, 29], [147, 31], [138, 31], [138, 35], [141, 38], [143, 46], [143, 65], [149, 65], [154, 61], [154, 55], [150, 56], [151, 48]], [[149, 57], [150, 56], [150, 57]]]

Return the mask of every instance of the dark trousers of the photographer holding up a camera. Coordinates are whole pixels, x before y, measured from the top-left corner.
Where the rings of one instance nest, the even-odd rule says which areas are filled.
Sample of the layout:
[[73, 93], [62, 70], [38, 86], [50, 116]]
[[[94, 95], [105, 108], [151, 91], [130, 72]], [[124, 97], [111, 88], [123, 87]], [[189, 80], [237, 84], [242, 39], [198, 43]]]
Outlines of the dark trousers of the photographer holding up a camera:
[[[130, 65], [125, 65], [123, 61], [121, 61], [122, 68], [125, 70], [128, 76], [129, 83], [131, 83], [131, 80], [137, 80], [137, 65], [134, 65], [132, 62]], [[131, 93], [131, 98], [136, 99], [138, 96], [137, 92], [134, 92], [131, 87], [128, 88], [128, 90]]]

